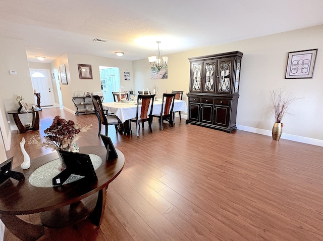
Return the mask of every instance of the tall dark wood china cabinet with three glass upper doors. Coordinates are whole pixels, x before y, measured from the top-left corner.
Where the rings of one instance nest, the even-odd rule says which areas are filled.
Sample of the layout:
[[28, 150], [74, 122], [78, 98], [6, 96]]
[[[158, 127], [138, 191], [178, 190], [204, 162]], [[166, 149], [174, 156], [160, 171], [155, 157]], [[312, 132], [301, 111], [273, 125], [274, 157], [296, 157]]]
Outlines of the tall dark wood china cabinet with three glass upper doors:
[[231, 133], [237, 129], [241, 58], [239, 51], [189, 58], [186, 123]]

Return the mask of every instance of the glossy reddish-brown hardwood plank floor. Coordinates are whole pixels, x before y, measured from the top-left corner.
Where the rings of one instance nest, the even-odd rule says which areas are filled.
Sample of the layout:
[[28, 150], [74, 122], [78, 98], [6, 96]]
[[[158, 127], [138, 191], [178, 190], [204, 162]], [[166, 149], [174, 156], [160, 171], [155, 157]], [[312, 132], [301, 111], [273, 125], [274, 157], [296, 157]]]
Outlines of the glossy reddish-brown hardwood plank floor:
[[[43, 109], [41, 130], [55, 115], [82, 125], [79, 146], [95, 146], [95, 115]], [[135, 124], [132, 126], [135, 130]], [[37, 131], [13, 133], [8, 158], [23, 161], [19, 142]], [[104, 127], [102, 127], [104, 133]], [[39, 240], [323, 240], [323, 148], [244, 131], [225, 132], [153, 122], [140, 136], [109, 127], [126, 163], [109, 185], [99, 228], [84, 220], [46, 229]], [[50, 151], [26, 144], [35, 158]], [[48, 197], [50, 199], [50, 197]], [[36, 217], [24, 217], [37, 221]], [[18, 240], [8, 229], [5, 241]]]

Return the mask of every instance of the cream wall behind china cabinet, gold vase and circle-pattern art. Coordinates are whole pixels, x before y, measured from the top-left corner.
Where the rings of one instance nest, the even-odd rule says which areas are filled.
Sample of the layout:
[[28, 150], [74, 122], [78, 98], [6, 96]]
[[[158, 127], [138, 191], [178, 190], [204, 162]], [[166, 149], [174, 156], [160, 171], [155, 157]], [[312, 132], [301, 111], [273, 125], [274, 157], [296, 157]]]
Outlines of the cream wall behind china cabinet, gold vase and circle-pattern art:
[[[264, 37], [202, 47], [168, 55], [168, 79], [150, 79], [147, 59], [134, 61], [135, 89], [151, 87], [160, 90], [189, 91], [188, 58], [231, 51], [244, 53], [241, 64], [240, 98], [237, 125], [245, 129], [272, 130], [274, 118], [270, 109], [270, 91], [286, 87], [295, 97], [289, 113], [283, 118], [283, 133], [323, 140], [323, 25]], [[318, 49], [312, 79], [285, 79], [288, 52]], [[187, 101], [187, 98], [183, 98]], [[269, 132], [267, 132], [269, 133]], [[323, 143], [323, 142], [322, 142]]]

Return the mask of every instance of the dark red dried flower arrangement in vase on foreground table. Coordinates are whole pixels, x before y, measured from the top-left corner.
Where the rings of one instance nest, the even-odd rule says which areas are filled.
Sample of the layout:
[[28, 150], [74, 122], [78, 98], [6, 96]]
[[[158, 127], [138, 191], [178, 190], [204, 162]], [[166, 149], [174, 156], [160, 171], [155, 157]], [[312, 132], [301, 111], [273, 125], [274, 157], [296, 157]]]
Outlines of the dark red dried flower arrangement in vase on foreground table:
[[[60, 116], [56, 116], [51, 126], [44, 130], [46, 135], [44, 136], [45, 141], [42, 146], [46, 149], [51, 148], [52, 150], [57, 151], [79, 152], [79, 148], [75, 142], [79, 138], [78, 134], [87, 131], [91, 126], [92, 125], [86, 125], [81, 128], [79, 124], [75, 124], [72, 120], [67, 121]], [[65, 165], [62, 162], [60, 171], [64, 169]]]

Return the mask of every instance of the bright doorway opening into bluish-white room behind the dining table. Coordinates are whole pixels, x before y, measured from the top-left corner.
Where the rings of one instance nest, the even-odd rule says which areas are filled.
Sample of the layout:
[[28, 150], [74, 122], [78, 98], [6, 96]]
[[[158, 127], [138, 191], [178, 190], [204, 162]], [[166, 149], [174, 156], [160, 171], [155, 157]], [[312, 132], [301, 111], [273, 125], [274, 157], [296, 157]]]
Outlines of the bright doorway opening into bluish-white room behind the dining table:
[[112, 91], [120, 89], [120, 72], [117, 67], [99, 66], [103, 102], [114, 102]]

